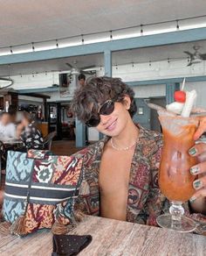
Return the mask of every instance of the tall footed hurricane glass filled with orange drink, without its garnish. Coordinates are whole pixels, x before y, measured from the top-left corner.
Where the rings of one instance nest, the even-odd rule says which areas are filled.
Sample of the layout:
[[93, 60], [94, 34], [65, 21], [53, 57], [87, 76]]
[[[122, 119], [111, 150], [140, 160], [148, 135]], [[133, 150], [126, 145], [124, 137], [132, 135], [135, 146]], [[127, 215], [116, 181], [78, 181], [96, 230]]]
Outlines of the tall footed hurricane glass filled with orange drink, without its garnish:
[[198, 125], [196, 117], [173, 117], [159, 113], [163, 133], [163, 148], [159, 173], [161, 193], [169, 200], [169, 214], [157, 217], [157, 223], [175, 231], [190, 232], [196, 223], [184, 216], [182, 203], [195, 193], [193, 181], [196, 176], [189, 172], [196, 165], [196, 158], [189, 155]]

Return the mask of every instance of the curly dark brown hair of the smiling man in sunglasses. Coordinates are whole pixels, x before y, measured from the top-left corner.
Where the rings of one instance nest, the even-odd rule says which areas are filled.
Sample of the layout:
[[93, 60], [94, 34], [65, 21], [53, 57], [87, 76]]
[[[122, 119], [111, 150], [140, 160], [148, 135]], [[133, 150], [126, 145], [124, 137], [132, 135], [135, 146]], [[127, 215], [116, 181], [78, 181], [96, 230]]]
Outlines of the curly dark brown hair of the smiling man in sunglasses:
[[92, 77], [86, 81], [86, 86], [75, 90], [71, 105], [72, 112], [81, 122], [86, 123], [93, 114], [98, 113], [101, 103], [109, 99], [123, 103], [124, 96], [129, 96], [131, 99], [128, 111], [133, 117], [137, 110], [133, 89], [120, 78]]

